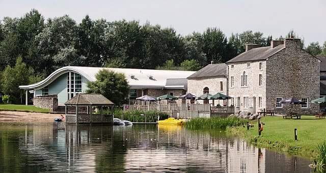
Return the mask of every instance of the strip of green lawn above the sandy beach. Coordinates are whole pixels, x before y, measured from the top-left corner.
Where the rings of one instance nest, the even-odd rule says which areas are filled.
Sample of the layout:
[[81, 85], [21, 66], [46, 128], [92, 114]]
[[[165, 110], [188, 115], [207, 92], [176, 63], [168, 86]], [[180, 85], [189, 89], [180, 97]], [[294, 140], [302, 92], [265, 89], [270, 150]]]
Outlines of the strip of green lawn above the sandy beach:
[[29, 112], [45, 112], [48, 113], [48, 109], [38, 108], [33, 105], [21, 105], [21, 104], [0, 104], [0, 110], [9, 111], [29, 111]]

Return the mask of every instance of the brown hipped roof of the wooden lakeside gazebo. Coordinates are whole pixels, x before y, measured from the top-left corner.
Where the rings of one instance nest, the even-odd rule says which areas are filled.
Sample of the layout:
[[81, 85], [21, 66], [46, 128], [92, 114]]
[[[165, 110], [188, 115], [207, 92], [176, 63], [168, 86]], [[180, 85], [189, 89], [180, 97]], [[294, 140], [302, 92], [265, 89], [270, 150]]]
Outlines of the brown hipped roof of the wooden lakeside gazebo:
[[114, 105], [114, 103], [108, 100], [101, 94], [78, 94], [75, 97], [68, 100], [66, 105]]

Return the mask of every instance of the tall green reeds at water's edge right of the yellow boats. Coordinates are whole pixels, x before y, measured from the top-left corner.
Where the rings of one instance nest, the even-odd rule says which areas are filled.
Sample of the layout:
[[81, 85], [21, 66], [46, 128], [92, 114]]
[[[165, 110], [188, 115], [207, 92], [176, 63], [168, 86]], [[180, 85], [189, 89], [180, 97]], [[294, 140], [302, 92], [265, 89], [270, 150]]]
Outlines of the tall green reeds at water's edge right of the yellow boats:
[[190, 130], [225, 130], [227, 127], [240, 126], [243, 123], [247, 123], [247, 120], [238, 119], [236, 117], [210, 119], [198, 118], [188, 121], [186, 123], [186, 128]]

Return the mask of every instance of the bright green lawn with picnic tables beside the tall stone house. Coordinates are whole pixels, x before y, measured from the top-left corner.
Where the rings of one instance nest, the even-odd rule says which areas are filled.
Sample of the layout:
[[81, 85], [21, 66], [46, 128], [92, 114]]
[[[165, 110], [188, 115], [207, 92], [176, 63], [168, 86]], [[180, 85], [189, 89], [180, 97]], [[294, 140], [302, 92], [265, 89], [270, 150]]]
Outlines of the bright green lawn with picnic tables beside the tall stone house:
[[[304, 157], [315, 157], [317, 145], [326, 139], [326, 120], [315, 120], [315, 116], [302, 116], [301, 120], [285, 120], [278, 116], [263, 117], [261, 122], [265, 125], [260, 137], [258, 137], [258, 122], [255, 122], [255, 127], [250, 130], [242, 126], [229, 130], [258, 147]], [[294, 128], [297, 129], [297, 141], [294, 140]]]

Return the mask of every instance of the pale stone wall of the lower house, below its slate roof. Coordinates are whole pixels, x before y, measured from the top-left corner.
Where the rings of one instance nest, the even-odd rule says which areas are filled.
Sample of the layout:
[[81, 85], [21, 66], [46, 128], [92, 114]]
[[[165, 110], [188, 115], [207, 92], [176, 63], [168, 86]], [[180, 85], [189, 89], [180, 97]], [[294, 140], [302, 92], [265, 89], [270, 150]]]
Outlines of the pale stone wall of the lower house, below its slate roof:
[[[221, 81], [223, 82], [223, 91], [221, 91]], [[191, 78], [188, 79], [188, 93], [195, 95], [196, 97], [204, 94], [203, 90], [205, 87], [209, 89], [209, 94], [223, 93], [227, 95], [226, 88], [226, 78], [225, 77], [210, 77], [210, 78]], [[198, 100], [198, 103], [203, 103], [203, 100]], [[223, 104], [222, 100], [209, 100], [209, 103], [217, 105]]]

